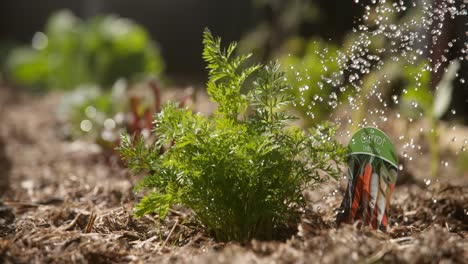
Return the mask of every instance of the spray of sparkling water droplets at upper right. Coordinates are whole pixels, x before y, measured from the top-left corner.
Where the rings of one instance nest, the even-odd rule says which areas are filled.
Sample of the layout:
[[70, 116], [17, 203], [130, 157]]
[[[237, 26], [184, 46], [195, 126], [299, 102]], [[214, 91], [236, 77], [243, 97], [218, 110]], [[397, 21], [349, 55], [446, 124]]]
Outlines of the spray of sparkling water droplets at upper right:
[[[327, 101], [335, 111], [333, 119], [340, 124], [348, 125], [344, 134], [350, 136], [354, 130], [364, 126], [384, 126], [389, 120], [399, 119], [403, 122], [413, 123], [423, 117], [405, 116], [399, 112], [402, 96], [414, 91], [399, 89], [402, 72], [405, 68], [415, 67], [426, 62], [420, 71], [410, 76], [415, 83], [413, 90], [427, 89], [424, 84], [426, 74], [431, 76], [430, 86], [438, 97], [437, 90], [442, 84], [434, 84], [436, 77], [443, 75], [456, 61], [465, 63], [468, 56], [468, 44], [461, 43], [463, 38], [455, 36], [447, 39], [444, 31], [450, 24], [459, 23], [459, 17], [467, 15], [468, 1], [455, 0], [414, 0], [414, 1], [386, 1], [372, 0], [370, 4], [355, 0], [362, 5], [364, 14], [356, 20], [352, 33], [348, 36], [339, 56], [325, 57], [323, 50], [317, 50], [322, 65], [329, 64], [327, 60], [336, 60], [338, 70], [327, 77], [323, 76], [317, 83], [311, 83], [300, 89], [302, 93], [299, 103], [305, 100], [309, 86], [331, 85], [334, 92], [328, 97], [315, 95], [307, 106], [308, 115], [314, 118], [316, 104]], [[465, 25], [466, 26], [466, 25]], [[468, 32], [467, 32], [468, 34]], [[460, 42], [460, 43], [459, 43]], [[455, 58], [449, 56], [456, 54]], [[324, 66], [322, 72], [327, 72]], [[308, 79], [307, 73], [297, 72], [298, 80]], [[440, 78], [439, 78], [440, 79]], [[465, 80], [455, 75], [460, 83]], [[449, 81], [452, 81], [451, 79]], [[429, 87], [430, 88], [430, 87]], [[434, 94], [432, 95], [434, 96]], [[413, 109], [421, 108], [420, 103], [412, 101], [409, 105]], [[317, 106], [318, 107], [318, 106]], [[395, 111], [389, 111], [393, 107]], [[450, 113], [455, 115], [455, 110]], [[419, 124], [419, 123], [418, 123]], [[434, 133], [433, 128], [421, 123], [417, 130], [419, 134], [401, 136], [398, 145], [401, 147], [400, 155], [407, 161], [412, 161], [415, 155], [422, 154], [422, 146], [418, 144], [417, 137], [423, 134]], [[455, 142], [456, 140], [454, 140]], [[465, 146], [460, 149], [466, 149]], [[447, 167], [448, 161], [441, 161]]]

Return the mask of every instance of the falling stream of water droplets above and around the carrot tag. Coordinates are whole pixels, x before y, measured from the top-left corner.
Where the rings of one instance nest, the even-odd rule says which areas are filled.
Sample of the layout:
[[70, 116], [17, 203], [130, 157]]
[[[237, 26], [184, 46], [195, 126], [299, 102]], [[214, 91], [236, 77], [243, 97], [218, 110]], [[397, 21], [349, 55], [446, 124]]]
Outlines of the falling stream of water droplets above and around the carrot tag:
[[[385, 130], [403, 126], [403, 129], [392, 133], [400, 159], [399, 169], [412, 166], [423, 153], [427, 155], [433, 149], [435, 158], [428, 162], [438, 164], [432, 169], [439, 174], [449, 174], [440, 173], [452, 167], [453, 162], [440, 155], [440, 142], [449, 138], [447, 144], [457, 146], [452, 152], [459, 156], [466, 155], [468, 139], [457, 136], [460, 133], [457, 133], [458, 127], [455, 125], [448, 125], [443, 134], [435, 130], [440, 129], [439, 119], [442, 116], [449, 119], [456, 117], [456, 110], [447, 108], [450, 98], [454, 96], [453, 86], [462, 86], [466, 91], [463, 85], [468, 85], [465, 80], [467, 74], [460, 70], [460, 64], [465, 65], [466, 69], [468, 63], [468, 20], [465, 19], [468, 0], [354, 2], [363, 7], [364, 14], [356, 19], [352, 33], [336, 58], [326, 57], [326, 50], [315, 51], [328, 77], [322, 76], [318, 83], [301, 87], [299, 91], [302, 96], [298, 104], [305, 106], [306, 96], [311, 96], [309, 87], [316, 85], [322, 89], [324, 84], [331, 85], [334, 92], [328, 97], [313, 95], [311, 103], [306, 105], [307, 115], [311, 119], [315, 118], [314, 108], [326, 101], [335, 110], [332, 120], [341, 124], [343, 142], [347, 142], [361, 127], [375, 126]], [[446, 33], [453, 26], [461, 27], [465, 36], [448, 36]], [[331, 59], [336, 60], [339, 69], [329, 74], [326, 65]], [[403, 72], [410, 68], [416, 69], [406, 76], [406, 82], [414, 84], [411, 90], [401, 81]], [[309, 80], [307, 71], [298, 71], [296, 78], [298, 81]], [[430, 95], [430, 110], [423, 105], [424, 102], [405, 99], [408, 93], [421, 91], [428, 91]], [[405, 107], [406, 110], [402, 110]], [[442, 111], [441, 107], [447, 109]], [[408, 115], [407, 112], [416, 114]], [[412, 128], [411, 131], [409, 128]], [[397, 131], [398, 134], [395, 134]], [[436, 133], [441, 133], [441, 137], [436, 138], [431, 146], [430, 138]], [[421, 143], [427, 141], [429, 143]], [[427, 165], [427, 168], [430, 166]], [[431, 177], [427, 172], [424, 185], [428, 192], [438, 182], [438, 177]], [[430, 195], [437, 203], [436, 195]], [[465, 213], [468, 215], [468, 209], [465, 209]]]

